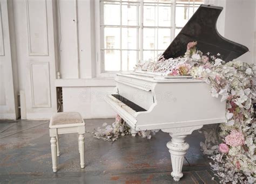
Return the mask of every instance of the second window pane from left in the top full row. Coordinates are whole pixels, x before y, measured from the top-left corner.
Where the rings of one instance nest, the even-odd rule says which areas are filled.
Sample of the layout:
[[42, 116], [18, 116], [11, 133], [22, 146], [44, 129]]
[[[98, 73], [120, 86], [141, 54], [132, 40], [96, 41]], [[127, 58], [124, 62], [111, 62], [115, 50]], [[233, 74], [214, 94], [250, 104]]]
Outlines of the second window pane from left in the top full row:
[[139, 25], [139, 4], [125, 4], [122, 5], [122, 25]]

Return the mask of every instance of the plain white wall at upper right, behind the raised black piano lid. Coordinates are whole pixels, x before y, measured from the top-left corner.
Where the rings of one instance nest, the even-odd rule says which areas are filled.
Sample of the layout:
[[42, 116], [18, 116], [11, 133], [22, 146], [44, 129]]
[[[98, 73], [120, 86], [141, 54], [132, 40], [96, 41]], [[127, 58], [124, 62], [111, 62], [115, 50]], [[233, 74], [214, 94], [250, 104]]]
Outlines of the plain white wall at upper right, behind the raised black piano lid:
[[249, 52], [237, 60], [255, 62], [255, 0], [209, 0], [206, 4], [223, 6], [217, 22], [217, 29], [222, 36], [248, 47]]

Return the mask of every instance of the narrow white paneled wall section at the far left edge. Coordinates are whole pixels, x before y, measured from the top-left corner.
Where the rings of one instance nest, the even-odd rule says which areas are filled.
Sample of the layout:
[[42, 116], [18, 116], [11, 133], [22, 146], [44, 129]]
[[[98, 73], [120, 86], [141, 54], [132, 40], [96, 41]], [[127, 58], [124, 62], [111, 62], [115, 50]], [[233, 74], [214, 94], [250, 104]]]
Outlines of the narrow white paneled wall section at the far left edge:
[[11, 6], [10, 1], [0, 1], [0, 119], [16, 119], [19, 116]]

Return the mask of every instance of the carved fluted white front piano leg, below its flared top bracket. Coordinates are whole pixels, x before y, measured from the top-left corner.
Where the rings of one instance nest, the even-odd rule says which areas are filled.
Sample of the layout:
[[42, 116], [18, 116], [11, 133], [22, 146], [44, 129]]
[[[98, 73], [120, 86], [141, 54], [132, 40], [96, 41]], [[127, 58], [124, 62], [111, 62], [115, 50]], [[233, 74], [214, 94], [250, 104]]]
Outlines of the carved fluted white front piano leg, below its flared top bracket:
[[[171, 135], [170, 135], [171, 136]], [[183, 176], [182, 166], [185, 154], [190, 147], [185, 142], [186, 136], [172, 136], [172, 140], [167, 143], [169, 152], [171, 153], [172, 160], [172, 173], [173, 179], [179, 181]]]

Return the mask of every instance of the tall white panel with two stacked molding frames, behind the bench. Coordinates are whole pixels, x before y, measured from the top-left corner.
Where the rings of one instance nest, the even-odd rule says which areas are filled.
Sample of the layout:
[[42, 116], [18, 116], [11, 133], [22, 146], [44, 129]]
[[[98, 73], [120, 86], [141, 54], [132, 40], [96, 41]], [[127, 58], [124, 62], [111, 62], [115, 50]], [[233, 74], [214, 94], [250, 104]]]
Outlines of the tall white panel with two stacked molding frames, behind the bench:
[[52, 1], [14, 0], [13, 5], [23, 118], [49, 118], [57, 109]]

